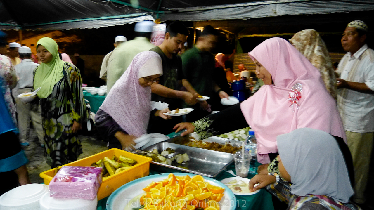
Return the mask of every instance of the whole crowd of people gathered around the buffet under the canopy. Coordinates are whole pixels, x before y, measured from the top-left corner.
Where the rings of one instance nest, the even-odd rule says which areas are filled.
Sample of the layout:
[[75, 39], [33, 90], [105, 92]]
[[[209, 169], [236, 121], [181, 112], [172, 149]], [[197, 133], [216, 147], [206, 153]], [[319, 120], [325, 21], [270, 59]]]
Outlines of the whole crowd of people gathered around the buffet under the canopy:
[[[341, 44], [347, 53], [338, 64], [332, 64], [315, 30], [290, 40], [265, 40], [248, 53], [258, 78], [252, 96], [226, 109], [220, 100], [229, 97], [228, 81], [235, 79], [229, 62], [235, 52], [211, 53], [218, 31], [206, 26], [186, 50], [189, 31], [182, 22], [169, 24], [158, 46], [150, 43], [153, 24], [137, 23], [133, 40], [116, 37], [102, 62], [107, 97], [95, 124], [109, 148], [133, 150], [134, 139], [146, 133], [186, 129], [182, 136], [196, 132], [204, 139], [251, 126], [262, 163], [249, 183], [251, 191], [266, 188], [275, 206], [282, 201], [289, 209], [354, 210], [365, 203], [374, 132], [374, 51], [366, 44], [364, 22], [345, 28]], [[63, 61], [57, 43], [47, 37], [37, 43], [40, 65], [31, 55], [30, 48], [0, 36], [0, 135], [8, 139], [0, 152], [0, 174], [18, 177], [7, 190], [30, 182], [19, 143], [26, 143], [30, 121], [54, 168], [82, 153], [77, 131], [89, 118], [84, 63]], [[239, 69], [246, 71], [243, 65]], [[14, 97], [16, 114], [12, 89], [13, 97], [39, 91], [30, 103]], [[198, 101], [197, 95], [211, 99]], [[168, 108], [157, 110], [151, 101]], [[163, 114], [177, 108], [194, 111], [184, 118]]]

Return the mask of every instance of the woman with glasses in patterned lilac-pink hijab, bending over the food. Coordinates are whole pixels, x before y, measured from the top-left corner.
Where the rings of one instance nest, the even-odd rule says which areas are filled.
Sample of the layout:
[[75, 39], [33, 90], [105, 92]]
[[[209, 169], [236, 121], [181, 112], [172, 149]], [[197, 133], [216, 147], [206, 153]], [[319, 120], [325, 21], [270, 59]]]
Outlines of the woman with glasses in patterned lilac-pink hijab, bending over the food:
[[134, 57], [95, 115], [96, 127], [109, 149], [134, 149], [135, 138], [147, 133], [150, 114], [164, 119], [168, 108], [152, 111], [151, 84], [162, 75], [161, 57], [153, 51]]

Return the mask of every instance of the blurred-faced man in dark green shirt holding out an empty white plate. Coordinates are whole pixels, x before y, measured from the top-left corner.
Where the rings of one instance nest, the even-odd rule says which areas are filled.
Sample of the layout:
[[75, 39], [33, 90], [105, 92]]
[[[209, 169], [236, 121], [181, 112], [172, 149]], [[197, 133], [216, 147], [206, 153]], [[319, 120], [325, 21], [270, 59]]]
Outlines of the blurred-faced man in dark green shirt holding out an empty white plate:
[[[196, 45], [183, 53], [181, 58], [183, 73], [186, 78], [186, 80], [183, 80], [183, 86], [193, 94], [199, 93], [211, 98], [214, 94], [218, 94], [222, 99], [229, 97], [229, 95], [221, 90], [213, 80], [212, 71], [215, 67], [215, 60], [213, 54], [210, 53], [217, 43], [218, 35], [217, 30], [207, 25], [197, 39]], [[183, 108], [194, 109], [193, 112], [186, 115], [187, 122], [193, 122], [209, 115], [212, 111], [209, 105], [210, 101], [211, 99], [199, 101], [199, 104], [193, 106], [184, 103]], [[214, 108], [214, 105], [212, 108]]]

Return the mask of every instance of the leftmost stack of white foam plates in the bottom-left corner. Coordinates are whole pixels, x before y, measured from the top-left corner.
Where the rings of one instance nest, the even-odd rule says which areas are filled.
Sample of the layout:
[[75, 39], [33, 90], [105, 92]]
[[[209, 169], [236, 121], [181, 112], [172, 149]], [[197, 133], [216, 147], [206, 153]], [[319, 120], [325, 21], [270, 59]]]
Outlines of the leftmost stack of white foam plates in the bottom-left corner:
[[0, 209], [39, 210], [39, 200], [43, 195], [49, 195], [48, 185], [22, 185], [0, 196]]

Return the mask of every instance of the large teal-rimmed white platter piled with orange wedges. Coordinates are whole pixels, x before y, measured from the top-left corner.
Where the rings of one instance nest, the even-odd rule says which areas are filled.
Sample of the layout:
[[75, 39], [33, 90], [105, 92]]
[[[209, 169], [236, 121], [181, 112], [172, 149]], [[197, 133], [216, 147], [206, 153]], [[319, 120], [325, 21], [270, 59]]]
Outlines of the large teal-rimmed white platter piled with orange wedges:
[[[135, 179], [116, 189], [107, 210], [234, 210], [236, 197], [218, 180], [191, 173], [162, 173]], [[161, 209], [161, 208], [160, 208]]]

